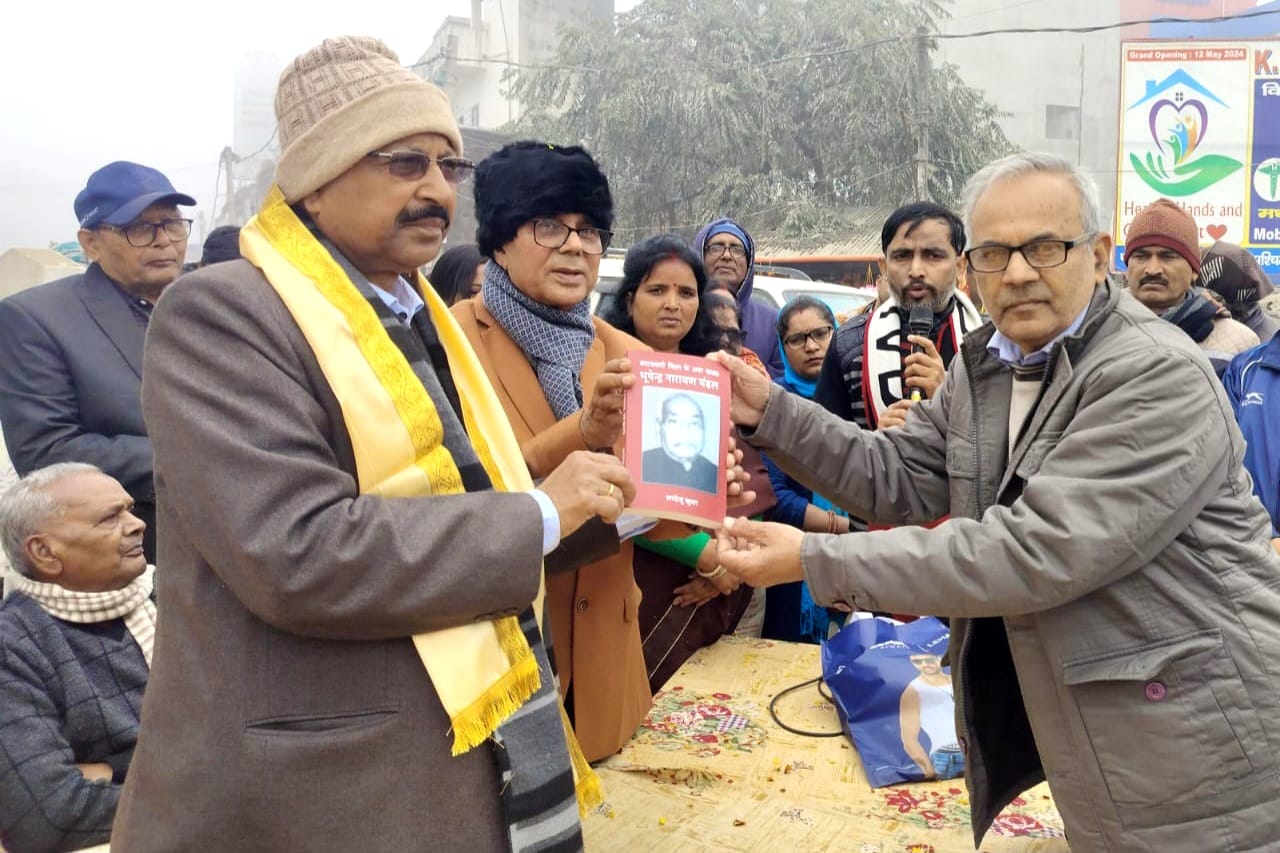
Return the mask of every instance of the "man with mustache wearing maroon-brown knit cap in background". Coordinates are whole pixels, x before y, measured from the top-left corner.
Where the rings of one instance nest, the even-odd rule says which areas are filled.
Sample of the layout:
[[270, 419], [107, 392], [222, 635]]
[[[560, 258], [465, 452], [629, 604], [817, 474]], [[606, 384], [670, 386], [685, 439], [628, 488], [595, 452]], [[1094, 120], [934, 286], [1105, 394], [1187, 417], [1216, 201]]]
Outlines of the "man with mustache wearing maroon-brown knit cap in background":
[[1257, 346], [1258, 336], [1196, 287], [1201, 272], [1199, 228], [1169, 199], [1133, 218], [1125, 234], [1129, 291], [1138, 301], [1196, 341], [1217, 375], [1231, 357]]

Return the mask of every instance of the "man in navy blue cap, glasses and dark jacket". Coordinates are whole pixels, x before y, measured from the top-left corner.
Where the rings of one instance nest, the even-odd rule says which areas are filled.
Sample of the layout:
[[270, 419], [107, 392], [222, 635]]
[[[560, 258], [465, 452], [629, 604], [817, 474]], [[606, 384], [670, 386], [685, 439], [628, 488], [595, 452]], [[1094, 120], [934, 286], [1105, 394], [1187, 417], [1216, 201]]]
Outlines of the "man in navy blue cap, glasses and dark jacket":
[[151, 441], [142, 423], [142, 341], [151, 306], [182, 272], [196, 200], [137, 163], [109, 163], [76, 196], [84, 273], [0, 301], [0, 425], [18, 474], [88, 462], [147, 523], [155, 560]]

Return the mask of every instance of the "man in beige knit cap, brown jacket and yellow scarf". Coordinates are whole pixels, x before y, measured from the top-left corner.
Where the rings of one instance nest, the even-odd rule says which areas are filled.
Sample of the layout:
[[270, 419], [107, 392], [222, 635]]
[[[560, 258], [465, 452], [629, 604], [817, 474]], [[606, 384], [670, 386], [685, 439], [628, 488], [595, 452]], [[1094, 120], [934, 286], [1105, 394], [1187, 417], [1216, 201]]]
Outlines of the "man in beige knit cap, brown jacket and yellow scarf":
[[581, 849], [599, 790], [541, 558], [631, 479], [584, 451], [535, 489], [406, 275], [472, 172], [443, 92], [340, 37], [282, 73], [275, 113], [243, 259], [183, 277], [148, 334], [166, 617], [111, 849]]

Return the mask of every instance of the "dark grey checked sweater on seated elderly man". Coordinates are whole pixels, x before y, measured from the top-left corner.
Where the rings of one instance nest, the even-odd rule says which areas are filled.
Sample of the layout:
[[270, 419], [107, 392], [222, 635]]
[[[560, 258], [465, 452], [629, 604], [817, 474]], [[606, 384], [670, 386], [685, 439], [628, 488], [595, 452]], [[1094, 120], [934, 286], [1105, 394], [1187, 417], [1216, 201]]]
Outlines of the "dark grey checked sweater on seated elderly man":
[[[74, 850], [110, 838], [147, 663], [124, 620], [79, 625], [12, 594], [0, 605], [0, 844]], [[78, 763], [106, 762], [110, 783]]]

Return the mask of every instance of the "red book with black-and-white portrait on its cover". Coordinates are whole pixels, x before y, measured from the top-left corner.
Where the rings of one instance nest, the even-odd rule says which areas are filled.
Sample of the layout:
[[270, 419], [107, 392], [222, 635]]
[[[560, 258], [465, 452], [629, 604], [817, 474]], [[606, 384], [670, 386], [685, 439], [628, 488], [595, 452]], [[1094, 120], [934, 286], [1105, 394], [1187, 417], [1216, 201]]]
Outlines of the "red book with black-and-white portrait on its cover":
[[724, 523], [730, 374], [710, 359], [631, 351], [623, 459], [636, 484], [628, 512], [705, 528]]

